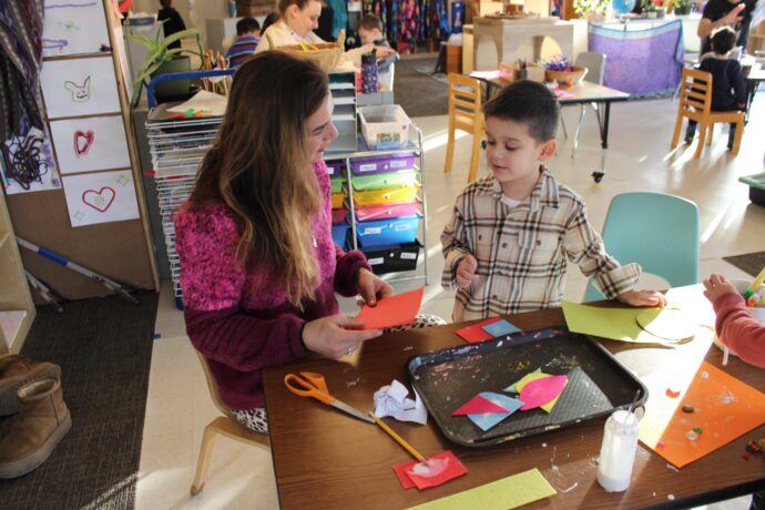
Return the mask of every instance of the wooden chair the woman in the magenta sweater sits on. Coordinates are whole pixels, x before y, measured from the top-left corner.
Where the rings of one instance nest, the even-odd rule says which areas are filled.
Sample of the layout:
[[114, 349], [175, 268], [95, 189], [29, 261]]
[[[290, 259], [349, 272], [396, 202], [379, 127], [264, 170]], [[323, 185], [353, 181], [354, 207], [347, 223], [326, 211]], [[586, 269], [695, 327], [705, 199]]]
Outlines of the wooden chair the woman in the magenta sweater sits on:
[[271, 451], [271, 440], [267, 434], [251, 430], [231, 416], [231, 409], [221, 400], [217, 385], [213, 375], [210, 373], [207, 360], [198, 351], [196, 351], [196, 355], [200, 357], [200, 363], [202, 364], [205, 378], [207, 379], [210, 397], [213, 399], [215, 407], [225, 416], [218, 416], [204, 428], [202, 447], [200, 448], [200, 459], [196, 462], [196, 475], [194, 476], [194, 482], [191, 487], [192, 496], [198, 494], [202, 489], [204, 489], [204, 483], [207, 480], [207, 470], [210, 469], [210, 459], [213, 457], [213, 448], [215, 447], [215, 439], [217, 439], [218, 435], [247, 445], [255, 445]]

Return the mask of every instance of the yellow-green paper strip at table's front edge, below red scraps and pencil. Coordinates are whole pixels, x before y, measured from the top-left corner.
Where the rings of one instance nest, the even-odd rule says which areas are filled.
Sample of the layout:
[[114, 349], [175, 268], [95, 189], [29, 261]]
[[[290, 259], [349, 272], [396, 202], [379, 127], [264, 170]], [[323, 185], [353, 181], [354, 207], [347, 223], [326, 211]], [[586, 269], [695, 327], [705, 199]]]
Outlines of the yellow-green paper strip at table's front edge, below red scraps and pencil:
[[507, 510], [557, 494], [539, 469], [411, 507], [410, 510]]

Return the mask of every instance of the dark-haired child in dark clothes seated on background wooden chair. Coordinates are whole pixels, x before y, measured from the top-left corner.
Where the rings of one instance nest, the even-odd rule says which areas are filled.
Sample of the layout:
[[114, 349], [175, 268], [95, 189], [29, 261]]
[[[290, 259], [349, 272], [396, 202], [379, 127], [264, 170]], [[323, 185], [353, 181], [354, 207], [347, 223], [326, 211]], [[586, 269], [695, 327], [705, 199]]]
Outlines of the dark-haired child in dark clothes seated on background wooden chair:
[[[736, 32], [731, 27], [723, 27], [712, 33], [714, 54], [704, 58], [698, 64], [701, 71], [712, 74], [712, 111], [730, 112], [746, 108], [746, 76], [737, 60], [727, 58], [736, 43]], [[688, 120], [685, 143], [693, 142], [696, 134], [696, 121]], [[731, 124], [727, 147], [733, 149], [736, 124]]]

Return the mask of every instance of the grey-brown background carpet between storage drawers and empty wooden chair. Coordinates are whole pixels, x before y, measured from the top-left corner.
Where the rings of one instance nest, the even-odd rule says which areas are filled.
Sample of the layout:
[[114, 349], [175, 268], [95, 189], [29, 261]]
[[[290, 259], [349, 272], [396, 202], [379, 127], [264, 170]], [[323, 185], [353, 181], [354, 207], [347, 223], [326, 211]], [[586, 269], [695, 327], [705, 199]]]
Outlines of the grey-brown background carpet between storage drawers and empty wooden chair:
[[401, 59], [396, 63], [396, 103], [410, 118], [446, 115], [449, 112], [449, 82], [443, 73], [432, 74], [436, 59]]

